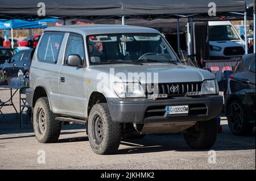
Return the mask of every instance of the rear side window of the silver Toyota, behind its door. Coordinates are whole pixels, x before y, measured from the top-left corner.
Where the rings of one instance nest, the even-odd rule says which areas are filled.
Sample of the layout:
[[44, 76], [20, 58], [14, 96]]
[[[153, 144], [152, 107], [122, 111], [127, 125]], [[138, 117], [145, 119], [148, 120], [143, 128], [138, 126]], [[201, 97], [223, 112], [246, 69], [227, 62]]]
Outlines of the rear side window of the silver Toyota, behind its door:
[[60, 52], [60, 45], [63, 40], [64, 33], [46, 32], [38, 47], [39, 61], [51, 64], [57, 63]]

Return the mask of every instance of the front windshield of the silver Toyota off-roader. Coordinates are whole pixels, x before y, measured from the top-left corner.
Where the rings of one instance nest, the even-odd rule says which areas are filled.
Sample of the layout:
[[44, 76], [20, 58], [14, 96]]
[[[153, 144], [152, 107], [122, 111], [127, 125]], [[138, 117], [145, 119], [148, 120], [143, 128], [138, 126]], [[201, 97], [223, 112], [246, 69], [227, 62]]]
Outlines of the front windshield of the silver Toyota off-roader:
[[158, 34], [94, 35], [87, 42], [91, 64], [179, 61]]

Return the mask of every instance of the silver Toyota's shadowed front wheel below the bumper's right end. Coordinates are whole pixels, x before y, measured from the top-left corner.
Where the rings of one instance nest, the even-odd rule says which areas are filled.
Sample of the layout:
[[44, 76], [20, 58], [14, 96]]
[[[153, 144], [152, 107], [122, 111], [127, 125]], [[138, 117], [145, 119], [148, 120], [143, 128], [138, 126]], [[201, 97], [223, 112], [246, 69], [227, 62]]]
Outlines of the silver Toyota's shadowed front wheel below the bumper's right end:
[[197, 123], [184, 132], [184, 138], [192, 149], [209, 149], [217, 137], [217, 121], [197, 121]]

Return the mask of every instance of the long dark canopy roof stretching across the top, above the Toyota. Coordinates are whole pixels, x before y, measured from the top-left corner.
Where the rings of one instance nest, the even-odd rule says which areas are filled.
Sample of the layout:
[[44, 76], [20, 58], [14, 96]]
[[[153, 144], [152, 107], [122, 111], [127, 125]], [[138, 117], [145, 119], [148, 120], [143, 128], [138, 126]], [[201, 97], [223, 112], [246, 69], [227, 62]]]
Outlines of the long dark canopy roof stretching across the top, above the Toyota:
[[[251, 0], [249, 0], [251, 1]], [[42, 0], [0, 0], [1, 19], [37, 18], [84, 18], [120, 19], [127, 18], [157, 19], [191, 16], [205, 18], [210, 2], [216, 3], [217, 16], [228, 16], [230, 12], [246, 11], [246, 2], [240, 0], [44, 0], [46, 16], [38, 16], [38, 3]]]

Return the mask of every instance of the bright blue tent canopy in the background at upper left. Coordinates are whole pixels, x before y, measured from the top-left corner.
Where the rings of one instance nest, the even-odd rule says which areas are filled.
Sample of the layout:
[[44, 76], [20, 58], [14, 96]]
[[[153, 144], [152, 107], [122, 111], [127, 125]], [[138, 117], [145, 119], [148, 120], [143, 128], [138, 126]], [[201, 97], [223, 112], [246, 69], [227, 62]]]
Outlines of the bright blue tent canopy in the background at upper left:
[[40, 19], [32, 22], [21, 19], [0, 19], [0, 30], [46, 28], [47, 22], [55, 22], [58, 19]]

